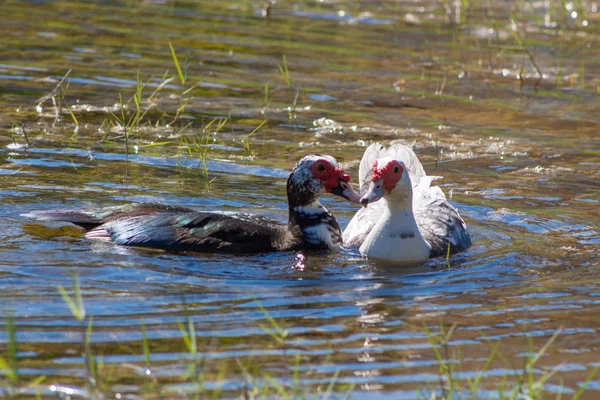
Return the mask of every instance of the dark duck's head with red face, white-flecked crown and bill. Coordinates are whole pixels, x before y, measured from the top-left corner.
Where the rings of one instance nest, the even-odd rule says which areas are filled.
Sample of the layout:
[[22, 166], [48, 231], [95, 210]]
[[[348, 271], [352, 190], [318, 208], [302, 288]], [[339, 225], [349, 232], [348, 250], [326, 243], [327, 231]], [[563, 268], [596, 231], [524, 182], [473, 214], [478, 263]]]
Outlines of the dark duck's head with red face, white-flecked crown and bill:
[[322, 193], [331, 193], [352, 203], [360, 203], [360, 195], [348, 182], [350, 175], [344, 172], [335, 158], [309, 154], [298, 161], [288, 178], [288, 200], [307, 205], [316, 201]]

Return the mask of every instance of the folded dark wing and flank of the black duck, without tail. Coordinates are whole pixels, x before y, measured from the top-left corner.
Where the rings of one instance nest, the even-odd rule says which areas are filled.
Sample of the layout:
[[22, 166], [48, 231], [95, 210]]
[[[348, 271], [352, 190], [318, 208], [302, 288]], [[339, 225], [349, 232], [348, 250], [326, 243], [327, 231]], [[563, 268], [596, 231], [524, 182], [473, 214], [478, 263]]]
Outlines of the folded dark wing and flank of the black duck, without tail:
[[256, 253], [301, 244], [286, 224], [247, 214], [161, 212], [114, 220], [99, 229], [117, 244], [171, 250]]

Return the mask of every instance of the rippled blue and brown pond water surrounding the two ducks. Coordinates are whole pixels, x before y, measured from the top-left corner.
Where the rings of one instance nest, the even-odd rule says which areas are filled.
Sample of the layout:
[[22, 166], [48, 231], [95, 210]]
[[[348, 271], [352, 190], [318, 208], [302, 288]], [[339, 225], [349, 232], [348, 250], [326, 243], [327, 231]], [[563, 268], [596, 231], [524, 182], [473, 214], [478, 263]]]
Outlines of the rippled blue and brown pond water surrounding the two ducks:
[[[91, 396], [86, 325], [57, 290], [76, 274], [93, 316], [95, 393], [107, 397], [191, 396], [200, 371], [216, 397], [248, 395], [268, 375], [298, 393], [333, 382], [339, 397], [417, 398], [440, 389], [427, 329], [452, 326], [440, 349], [456, 379], [476, 377], [500, 344], [478, 396], [512, 390], [554, 334], [534, 376], [556, 369], [550, 397], [574, 393], [600, 365], [598, 4], [445, 4], [2, 2], [0, 301], [3, 325], [16, 324], [17, 386]], [[169, 40], [182, 65], [189, 54], [184, 85]], [[62, 109], [38, 106], [68, 70]], [[109, 110], [119, 115], [138, 73], [149, 111], [126, 155]], [[165, 254], [20, 217], [161, 201], [284, 221], [285, 178], [302, 155], [332, 154], [356, 176], [365, 146], [391, 140], [444, 175], [469, 225], [473, 247], [449, 263], [394, 268], [353, 250]], [[324, 202], [342, 226], [356, 211]], [[196, 364], [178, 325], [188, 318]], [[273, 324], [288, 330], [284, 344]], [[599, 389], [592, 378], [583, 397]]]

